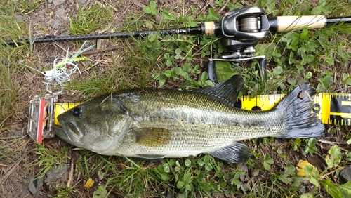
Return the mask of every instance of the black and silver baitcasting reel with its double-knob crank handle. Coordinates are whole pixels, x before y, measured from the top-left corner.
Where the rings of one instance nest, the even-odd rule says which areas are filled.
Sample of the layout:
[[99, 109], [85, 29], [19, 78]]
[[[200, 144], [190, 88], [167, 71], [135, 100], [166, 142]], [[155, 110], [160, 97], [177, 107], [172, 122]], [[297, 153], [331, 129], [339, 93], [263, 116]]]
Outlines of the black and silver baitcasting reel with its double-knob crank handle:
[[254, 47], [267, 37], [270, 30], [270, 22], [264, 12], [263, 8], [258, 6], [238, 8], [225, 14], [221, 22], [214, 23], [221, 30], [220, 33], [223, 35], [221, 41], [229, 54], [208, 60], [208, 79], [217, 81], [216, 61], [239, 64], [256, 58], [260, 73], [263, 77], [267, 77], [265, 56], [253, 56]]

